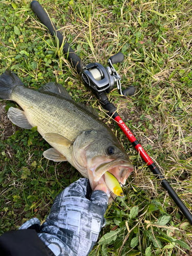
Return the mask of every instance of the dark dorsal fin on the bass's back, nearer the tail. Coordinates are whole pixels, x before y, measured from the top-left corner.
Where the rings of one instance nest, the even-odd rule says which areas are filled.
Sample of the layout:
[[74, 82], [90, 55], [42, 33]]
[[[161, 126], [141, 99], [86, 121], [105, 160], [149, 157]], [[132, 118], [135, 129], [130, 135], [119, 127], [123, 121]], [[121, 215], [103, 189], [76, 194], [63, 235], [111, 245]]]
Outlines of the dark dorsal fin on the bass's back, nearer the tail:
[[62, 87], [61, 84], [58, 82], [48, 82], [47, 84], [45, 84], [45, 86], [42, 86], [38, 91], [41, 93], [55, 93], [61, 97], [64, 96], [65, 98], [72, 100], [66, 88]]

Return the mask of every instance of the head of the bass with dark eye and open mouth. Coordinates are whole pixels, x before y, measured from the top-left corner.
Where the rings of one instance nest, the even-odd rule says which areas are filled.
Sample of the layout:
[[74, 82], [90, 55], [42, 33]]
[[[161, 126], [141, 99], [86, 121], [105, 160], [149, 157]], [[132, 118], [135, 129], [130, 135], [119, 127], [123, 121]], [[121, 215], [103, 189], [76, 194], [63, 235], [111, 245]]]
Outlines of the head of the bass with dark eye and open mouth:
[[[112, 132], [84, 131], [73, 145], [73, 165], [84, 176], [89, 178], [92, 189], [105, 183], [104, 173], [113, 174], [121, 184], [133, 171], [129, 156]], [[106, 194], [110, 198], [110, 189]], [[116, 195], [112, 195], [116, 197]], [[110, 201], [110, 200], [109, 200]]]

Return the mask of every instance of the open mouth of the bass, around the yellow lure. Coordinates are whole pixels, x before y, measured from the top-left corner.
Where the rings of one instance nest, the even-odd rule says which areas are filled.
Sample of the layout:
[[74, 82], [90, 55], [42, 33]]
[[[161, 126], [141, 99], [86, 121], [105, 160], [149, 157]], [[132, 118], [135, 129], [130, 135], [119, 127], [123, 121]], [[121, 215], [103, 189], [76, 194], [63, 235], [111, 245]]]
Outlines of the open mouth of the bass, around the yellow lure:
[[92, 179], [90, 179], [92, 189], [94, 189], [99, 184], [104, 184], [106, 186], [106, 194], [108, 195], [110, 203], [113, 201], [112, 197], [115, 198], [116, 195], [112, 193], [110, 188], [106, 185], [104, 173], [109, 172], [113, 174], [119, 181], [119, 183], [124, 185], [126, 179], [133, 172], [133, 165], [131, 164], [131, 162], [124, 160], [111, 160], [110, 162], [102, 163], [96, 168], [92, 168], [91, 170], [93, 174]]

